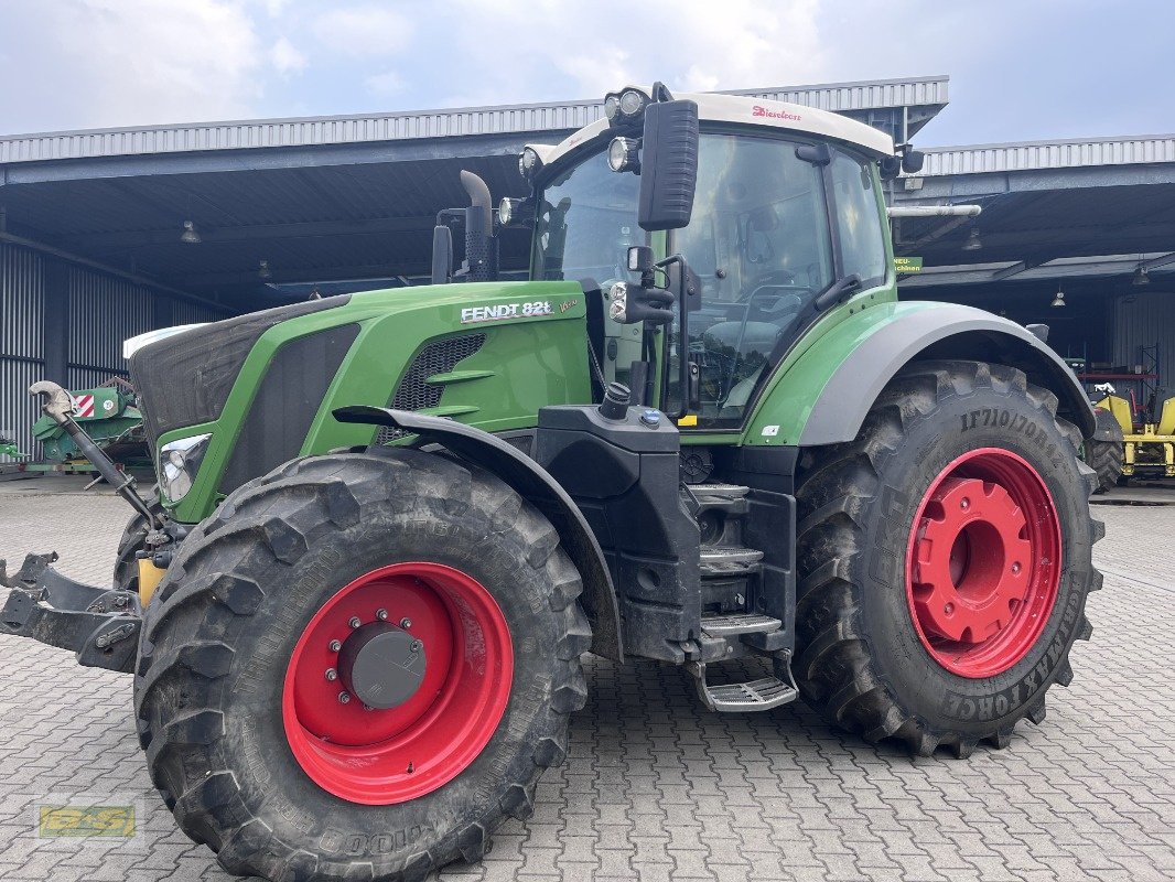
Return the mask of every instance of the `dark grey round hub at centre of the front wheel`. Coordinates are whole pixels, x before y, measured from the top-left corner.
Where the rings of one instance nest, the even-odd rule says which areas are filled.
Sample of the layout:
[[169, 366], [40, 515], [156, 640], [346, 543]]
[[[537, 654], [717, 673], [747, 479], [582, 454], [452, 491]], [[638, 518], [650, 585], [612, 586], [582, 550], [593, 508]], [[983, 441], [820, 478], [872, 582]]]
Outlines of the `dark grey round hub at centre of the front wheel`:
[[338, 677], [343, 688], [367, 707], [389, 710], [421, 688], [427, 661], [424, 644], [407, 630], [371, 622], [343, 641]]

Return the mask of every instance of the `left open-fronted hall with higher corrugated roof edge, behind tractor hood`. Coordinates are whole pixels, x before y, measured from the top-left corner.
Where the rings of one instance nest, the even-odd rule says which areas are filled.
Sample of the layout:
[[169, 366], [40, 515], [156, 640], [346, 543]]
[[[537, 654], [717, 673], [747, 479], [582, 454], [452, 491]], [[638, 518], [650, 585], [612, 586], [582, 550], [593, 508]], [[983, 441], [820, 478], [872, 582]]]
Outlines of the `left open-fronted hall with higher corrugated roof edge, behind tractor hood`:
[[[752, 89], [845, 113], [899, 140], [947, 78]], [[419, 280], [461, 168], [495, 198], [516, 158], [598, 119], [603, 99], [0, 138], [0, 434], [32, 449], [28, 385], [121, 374], [121, 341], [304, 295]], [[200, 243], [181, 242], [183, 221]], [[503, 265], [525, 266], [525, 236]], [[262, 265], [264, 261], [264, 265]], [[262, 272], [262, 266], [264, 270]]]

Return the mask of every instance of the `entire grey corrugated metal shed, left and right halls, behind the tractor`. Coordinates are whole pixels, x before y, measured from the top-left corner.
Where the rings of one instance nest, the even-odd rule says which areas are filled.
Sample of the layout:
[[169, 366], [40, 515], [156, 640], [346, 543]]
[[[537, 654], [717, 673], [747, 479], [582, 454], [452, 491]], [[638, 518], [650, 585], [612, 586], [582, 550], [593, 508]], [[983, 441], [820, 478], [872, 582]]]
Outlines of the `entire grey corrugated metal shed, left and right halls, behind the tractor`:
[[[928, 76], [738, 94], [925, 141], [948, 85]], [[27, 448], [28, 383], [49, 376], [78, 388], [119, 374], [122, 339], [141, 330], [314, 286], [418, 281], [437, 211], [466, 201], [462, 168], [495, 199], [519, 195], [523, 145], [553, 143], [600, 114], [602, 100], [585, 100], [0, 136], [0, 433]], [[1171, 376], [1175, 136], [934, 148], [889, 196], [983, 208], [974, 221], [895, 223], [899, 254], [925, 261], [902, 282], [905, 296], [1045, 320], [1062, 354], [1090, 362], [1132, 363], [1157, 339]], [[186, 221], [199, 243], [181, 241]], [[508, 229], [504, 268], [523, 269], [526, 253], [525, 234]], [[1132, 283], [1140, 266], [1146, 290]], [[1065, 310], [1049, 307], [1060, 287]]]

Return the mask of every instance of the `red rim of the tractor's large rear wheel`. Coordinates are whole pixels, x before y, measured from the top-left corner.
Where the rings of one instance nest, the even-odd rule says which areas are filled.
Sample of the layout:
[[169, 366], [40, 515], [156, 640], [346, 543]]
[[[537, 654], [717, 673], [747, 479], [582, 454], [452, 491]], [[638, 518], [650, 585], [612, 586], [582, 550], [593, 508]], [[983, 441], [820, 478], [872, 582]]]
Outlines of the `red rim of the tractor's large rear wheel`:
[[986, 447], [931, 482], [906, 550], [906, 599], [922, 646], [947, 670], [1000, 674], [1035, 646], [1061, 580], [1061, 524], [1023, 457]]

